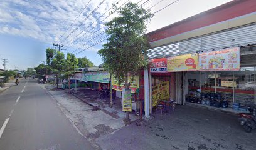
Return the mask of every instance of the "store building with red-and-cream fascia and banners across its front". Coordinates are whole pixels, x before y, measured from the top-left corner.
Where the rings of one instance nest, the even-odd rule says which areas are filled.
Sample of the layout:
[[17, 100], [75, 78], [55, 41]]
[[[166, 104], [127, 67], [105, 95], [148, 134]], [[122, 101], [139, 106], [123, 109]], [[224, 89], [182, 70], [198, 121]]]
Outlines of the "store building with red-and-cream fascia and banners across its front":
[[164, 99], [256, 104], [256, 1], [231, 1], [146, 36], [149, 112]]

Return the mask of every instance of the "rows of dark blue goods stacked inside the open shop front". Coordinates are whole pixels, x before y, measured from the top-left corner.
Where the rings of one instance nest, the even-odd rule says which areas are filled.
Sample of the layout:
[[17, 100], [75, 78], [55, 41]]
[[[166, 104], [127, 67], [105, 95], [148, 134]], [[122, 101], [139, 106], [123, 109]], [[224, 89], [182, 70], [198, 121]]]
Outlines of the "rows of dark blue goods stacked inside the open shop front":
[[191, 103], [205, 104], [213, 107], [228, 107], [228, 101], [223, 98], [222, 93], [189, 92], [186, 101]]

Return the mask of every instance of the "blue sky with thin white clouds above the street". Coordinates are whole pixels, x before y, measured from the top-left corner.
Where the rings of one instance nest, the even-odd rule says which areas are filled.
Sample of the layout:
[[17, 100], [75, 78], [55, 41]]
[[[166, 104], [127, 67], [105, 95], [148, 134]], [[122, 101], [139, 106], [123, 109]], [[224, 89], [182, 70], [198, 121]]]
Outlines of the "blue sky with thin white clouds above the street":
[[[112, 3], [127, 0], [1, 0], [0, 61], [8, 59], [6, 69], [26, 69], [45, 61], [45, 49], [63, 45], [65, 54], [86, 56], [95, 65], [102, 63], [97, 51], [105, 39], [104, 23]], [[156, 12], [176, 0], [130, 0]], [[161, 1], [161, 2], [160, 2]], [[181, 21], [231, 0], [179, 0], [155, 14], [147, 32]], [[110, 10], [110, 11], [109, 11]], [[82, 12], [82, 13], [81, 13]], [[79, 16], [80, 14], [80, 16]], [[99, 42], [102, 41], [102, 42]], [[98, 43], [99, 42], [99, 43]], [[83, 51], [82, 51], [83, 50]], [[2, 63], [1, 63], [2, 64]], [[0, 69], [3, 66], [0, 65]]]

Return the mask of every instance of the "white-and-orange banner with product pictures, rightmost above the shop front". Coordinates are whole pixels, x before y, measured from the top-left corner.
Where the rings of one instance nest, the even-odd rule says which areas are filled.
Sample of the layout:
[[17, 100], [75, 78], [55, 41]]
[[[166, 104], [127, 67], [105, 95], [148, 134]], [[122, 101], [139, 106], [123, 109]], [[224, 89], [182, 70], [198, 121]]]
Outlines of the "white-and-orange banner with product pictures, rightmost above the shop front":
[[240, 48], [200, 53], [198, 66], [200, 71], [239, 71]]

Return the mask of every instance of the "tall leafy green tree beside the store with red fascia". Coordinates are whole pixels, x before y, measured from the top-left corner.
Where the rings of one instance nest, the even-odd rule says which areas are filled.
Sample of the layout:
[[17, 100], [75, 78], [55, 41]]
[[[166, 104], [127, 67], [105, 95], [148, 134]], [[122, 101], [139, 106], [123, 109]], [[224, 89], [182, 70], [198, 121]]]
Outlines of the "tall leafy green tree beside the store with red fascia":
[[[144, 34], [153, 14], [132, 2], [125, 4], [124, 8], [113, 6], [111, 13], [117, 17], [105, 24], [109, 38], [98, 54], [105, 68], [119, 83], [124, 83], [125, 89], [129, 89], [128, 74], [135, 75], [146, 65], [144, 54], [149, 44]], [[129, 119], [128, 113], [126, 119]]]

